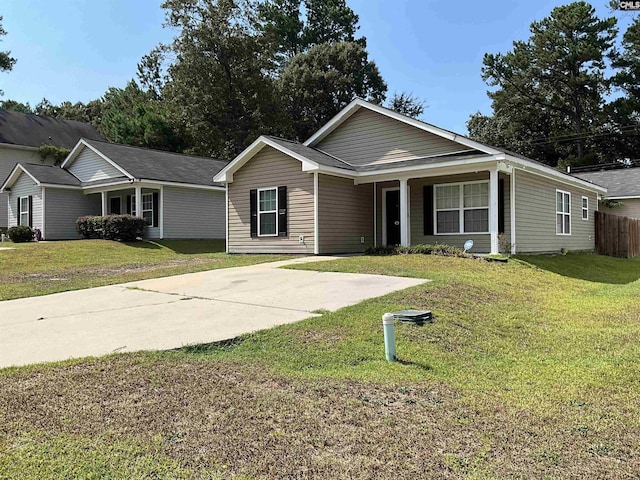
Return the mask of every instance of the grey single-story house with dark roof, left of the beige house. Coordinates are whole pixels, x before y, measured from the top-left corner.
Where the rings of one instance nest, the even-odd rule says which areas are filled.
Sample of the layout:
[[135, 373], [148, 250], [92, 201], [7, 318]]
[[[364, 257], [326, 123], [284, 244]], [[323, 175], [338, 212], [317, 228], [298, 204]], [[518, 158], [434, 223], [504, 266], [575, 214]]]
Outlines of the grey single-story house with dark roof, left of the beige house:
[[19, 163], [0, 188], [9, 226], [39, 228], [47, 240], [78, 238], [84, 215], [132, 214], [149, 238], [224, 238], [227, 162], [81, 139], [61, 167]]

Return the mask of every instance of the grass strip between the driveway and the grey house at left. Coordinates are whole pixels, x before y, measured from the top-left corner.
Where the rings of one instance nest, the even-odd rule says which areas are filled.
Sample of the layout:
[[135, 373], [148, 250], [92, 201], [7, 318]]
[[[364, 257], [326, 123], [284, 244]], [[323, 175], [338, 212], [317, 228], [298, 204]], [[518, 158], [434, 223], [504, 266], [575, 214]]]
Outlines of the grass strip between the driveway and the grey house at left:
[[14, 250], [0, 251], [0, 300], [287, 258], [227, 255], [221, 240], [76, 240], [2, 245]]

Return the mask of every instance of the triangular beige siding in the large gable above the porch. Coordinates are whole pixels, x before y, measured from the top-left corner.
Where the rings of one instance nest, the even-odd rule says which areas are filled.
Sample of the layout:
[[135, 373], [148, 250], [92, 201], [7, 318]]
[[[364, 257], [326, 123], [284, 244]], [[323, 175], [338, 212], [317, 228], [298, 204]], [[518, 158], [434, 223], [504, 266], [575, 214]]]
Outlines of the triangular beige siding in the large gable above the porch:
[[468, 151], [432, 133], [361, 108], [316, 148], [352, 165], [395, 162]]

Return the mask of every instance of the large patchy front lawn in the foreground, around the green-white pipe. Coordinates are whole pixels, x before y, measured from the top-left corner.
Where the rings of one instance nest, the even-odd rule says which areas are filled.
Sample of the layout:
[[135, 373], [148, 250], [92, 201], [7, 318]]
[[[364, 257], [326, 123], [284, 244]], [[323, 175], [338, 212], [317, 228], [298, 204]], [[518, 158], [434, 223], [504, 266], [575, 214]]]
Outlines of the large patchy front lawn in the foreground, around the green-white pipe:
[[[610, 260], [296, 266], [433, 282], [217, 344], [2, 370], [0, 478], [636, 478], [638, 264], [576, 270]], [[381, 315], [408, 307], [436, 321], [399, 324], [387, 363]]]

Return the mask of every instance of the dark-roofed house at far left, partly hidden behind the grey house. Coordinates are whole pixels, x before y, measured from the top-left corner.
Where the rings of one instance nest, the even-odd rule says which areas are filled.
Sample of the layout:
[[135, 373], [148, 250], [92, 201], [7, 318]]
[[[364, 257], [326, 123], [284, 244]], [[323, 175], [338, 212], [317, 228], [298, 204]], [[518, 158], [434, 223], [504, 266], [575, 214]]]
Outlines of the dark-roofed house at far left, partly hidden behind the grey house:
[[[104, 140], [89, 123], [0, 109], [0, 182], [16, 163], [53, 165], [53, 159], [40, 156], [41, 145], [72, 149], [83, 137]], [[7, 195], [0, 193], [0, 229], [7, 219]]]

